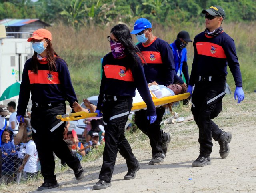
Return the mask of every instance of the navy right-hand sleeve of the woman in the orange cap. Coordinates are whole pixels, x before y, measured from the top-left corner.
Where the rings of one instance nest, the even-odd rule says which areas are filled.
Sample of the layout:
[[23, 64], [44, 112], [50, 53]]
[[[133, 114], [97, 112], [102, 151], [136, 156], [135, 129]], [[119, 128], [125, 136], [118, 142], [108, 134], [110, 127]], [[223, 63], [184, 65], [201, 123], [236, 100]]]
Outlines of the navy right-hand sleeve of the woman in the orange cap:
[[57, 61], [58, 61], [58, 65], [60, 65], [60, 70], [58, 72], [60, 83], [64, 87], [64, 91], [66, 92], [65, 98], [69, 102], [69, 106], [72, 109], [73, 103], [78, 102], [78, 100], [76, 98], [76, 93], [71, 82], [68, 65], [64, 60], [58, 59]]

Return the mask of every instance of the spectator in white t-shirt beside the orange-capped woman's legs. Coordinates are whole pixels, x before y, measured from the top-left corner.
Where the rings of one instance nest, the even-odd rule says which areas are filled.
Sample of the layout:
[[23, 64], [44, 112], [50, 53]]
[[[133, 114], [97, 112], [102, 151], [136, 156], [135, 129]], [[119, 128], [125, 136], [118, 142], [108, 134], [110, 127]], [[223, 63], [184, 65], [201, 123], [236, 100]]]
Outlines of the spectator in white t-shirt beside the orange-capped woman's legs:
[[24, 172], [26, 179], [36, 178], [38, 175], [38, 153], [36, 143], [32, 139], [32, 132], [28, 133], [28, 143], [26, 145], [26, 155], [22, 165], [19, 167], [20, 172]]

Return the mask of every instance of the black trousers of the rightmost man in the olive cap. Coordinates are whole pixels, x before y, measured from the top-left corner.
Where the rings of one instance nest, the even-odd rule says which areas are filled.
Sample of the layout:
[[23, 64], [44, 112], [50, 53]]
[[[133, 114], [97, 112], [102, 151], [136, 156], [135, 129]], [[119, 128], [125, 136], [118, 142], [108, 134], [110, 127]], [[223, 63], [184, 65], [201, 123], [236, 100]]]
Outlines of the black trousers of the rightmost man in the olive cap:
[[214, 119], [222, 111], [222, 99], [225, 96], [226, 81], [198, 81], [192, 94], [191, 111], [199, 128], [200, 154], [212, 153], [212, 138], [218, 141], [221, 133]]

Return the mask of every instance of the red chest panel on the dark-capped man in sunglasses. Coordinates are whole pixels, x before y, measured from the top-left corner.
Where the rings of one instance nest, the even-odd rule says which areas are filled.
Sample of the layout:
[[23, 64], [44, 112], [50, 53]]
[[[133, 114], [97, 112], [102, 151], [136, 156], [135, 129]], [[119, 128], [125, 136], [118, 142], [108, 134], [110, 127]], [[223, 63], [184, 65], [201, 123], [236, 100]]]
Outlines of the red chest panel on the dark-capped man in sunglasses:
[[215, 58], [227, 58], [223, 48], [218, 44], [210, 42], [197, 42], [197, 53], [204, 56], [211, 56]]

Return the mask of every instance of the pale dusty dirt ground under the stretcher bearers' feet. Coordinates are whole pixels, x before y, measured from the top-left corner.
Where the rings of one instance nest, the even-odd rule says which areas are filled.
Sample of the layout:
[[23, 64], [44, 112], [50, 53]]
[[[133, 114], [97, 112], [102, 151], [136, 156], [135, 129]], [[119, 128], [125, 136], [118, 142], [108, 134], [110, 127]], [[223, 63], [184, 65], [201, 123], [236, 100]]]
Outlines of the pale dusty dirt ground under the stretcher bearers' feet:
[[[191, 112], [186, 119], [191, 118]], [[241, 104], [233, 96], [224, 97], [223, 110], [214, 121], [232, 132], [230, 155], [221, 159], [219, 144], [214, 141], [210, 157], [212, 165], [192, 168], [198, 157], [198, 129], [194, 121], [168, 124], [163, 127], [172, 133], [171, 148], [164, 163], [148, 165], [152, 155], [149, 141], [132, 143], [133, 152], [142, 167], [135, 179], [125, 181], [125, 160], [118, 154], [112, 186], [99, 192], [253, 192], [256, 191], [256, 93], [246, 95]], [[83, 163], [85, 176], [76, 181], [72, 170], [57, 173], [60, 187], [43, 192], [86, 192], [98, 181], [102, 157]], [[1, 191], [35, 191], [42, 180], [34, 183], [10, 185]]]

